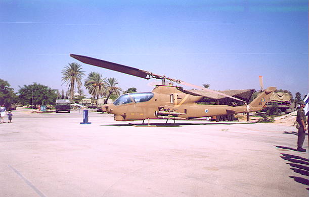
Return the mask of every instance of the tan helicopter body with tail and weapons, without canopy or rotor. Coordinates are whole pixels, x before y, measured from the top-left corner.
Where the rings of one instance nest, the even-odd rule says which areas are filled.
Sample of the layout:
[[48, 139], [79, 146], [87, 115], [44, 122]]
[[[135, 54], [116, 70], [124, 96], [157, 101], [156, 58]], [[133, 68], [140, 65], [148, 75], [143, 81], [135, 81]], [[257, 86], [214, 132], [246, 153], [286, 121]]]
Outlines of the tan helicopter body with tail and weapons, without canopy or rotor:
[[[274, 89], [275, 90], [275, 89]], [[191, 119], [214, 115], [242, 113], [248, 106], [203, 105], [196, 104], [203, 96], [194, 96], [182, 91], [181, 87], [157, 85], [152, 91], [153, 97], [145, 102], [132, 102], [120, 105], [109, 104], [102, 110], [114, 114], [115, 120], [144, 120], [144, 119]], [[129, 95], [129, 94], [128, 94]], [[251, 106], [254, 110], [261, 109], [269, 100], [264, 95], [257, 98], [261, 102]], [[250, 110], [252, 111], [252, 110]]]

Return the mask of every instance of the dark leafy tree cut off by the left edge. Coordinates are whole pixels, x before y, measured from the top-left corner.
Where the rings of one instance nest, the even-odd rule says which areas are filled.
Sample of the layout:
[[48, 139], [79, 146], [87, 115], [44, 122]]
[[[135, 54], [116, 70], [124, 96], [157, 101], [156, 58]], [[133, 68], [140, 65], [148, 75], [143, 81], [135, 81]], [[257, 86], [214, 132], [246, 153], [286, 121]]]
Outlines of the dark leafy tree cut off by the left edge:
[[15, 102], [16, 94], [14, 89], [10, 88], [10, 84], [7, 81], [0, 79], [0, 105], [10, 107]]

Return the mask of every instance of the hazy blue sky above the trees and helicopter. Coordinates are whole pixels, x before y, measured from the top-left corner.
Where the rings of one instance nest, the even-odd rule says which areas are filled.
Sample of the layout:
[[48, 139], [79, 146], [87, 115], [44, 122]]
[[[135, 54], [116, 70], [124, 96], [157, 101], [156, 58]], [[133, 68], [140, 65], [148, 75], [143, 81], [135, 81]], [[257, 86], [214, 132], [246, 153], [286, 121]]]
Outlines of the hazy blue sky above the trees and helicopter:
[[[275, 86], [308, 92], [308, 1], [0, 1], [0, 79], [54, 89], [71, 62], [118, 79], [150, 82], [81, 63], [92, 56], [211, 89]], [[185, 87], [189, 89], [189, 87]], [[85, 91], [86, 92], [86, 91]]]

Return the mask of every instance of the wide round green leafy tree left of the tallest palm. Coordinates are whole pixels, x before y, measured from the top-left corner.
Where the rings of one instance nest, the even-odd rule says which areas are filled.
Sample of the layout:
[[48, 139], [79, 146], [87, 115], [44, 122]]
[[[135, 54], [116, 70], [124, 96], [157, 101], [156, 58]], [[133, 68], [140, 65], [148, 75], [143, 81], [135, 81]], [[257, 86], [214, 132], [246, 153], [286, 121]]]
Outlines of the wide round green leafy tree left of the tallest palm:
[[24, 85], [23, 87], [19, 86], [19, 88], [18, 98], [22, 105], [31, 105], [31, 98], [33, 98], [33, 105], [54, 105], [58, 96], [57, 90], [37, 83], [28, 86]]

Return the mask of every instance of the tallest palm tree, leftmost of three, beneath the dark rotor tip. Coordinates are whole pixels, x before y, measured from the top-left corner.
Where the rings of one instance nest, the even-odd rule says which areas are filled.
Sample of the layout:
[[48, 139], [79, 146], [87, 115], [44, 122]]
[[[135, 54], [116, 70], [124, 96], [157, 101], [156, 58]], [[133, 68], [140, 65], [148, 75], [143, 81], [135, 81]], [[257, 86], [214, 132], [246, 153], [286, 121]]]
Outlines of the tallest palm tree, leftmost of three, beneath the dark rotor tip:
[[84, 71], [81, 70], [81, 65], [75, 62], [69, 63], [69, 66], [65, 66], [65, 68], [62, 70], [62, 80], [67, 82], [69, 84], [69, 90], [70, 90], [70, 96], [71, 100], [74, 98], [74, 89], [75, 86], [77, 89], [80, 89], [80, 86], [82, 85], [81, 79], [82, 76], [85, 75]]

